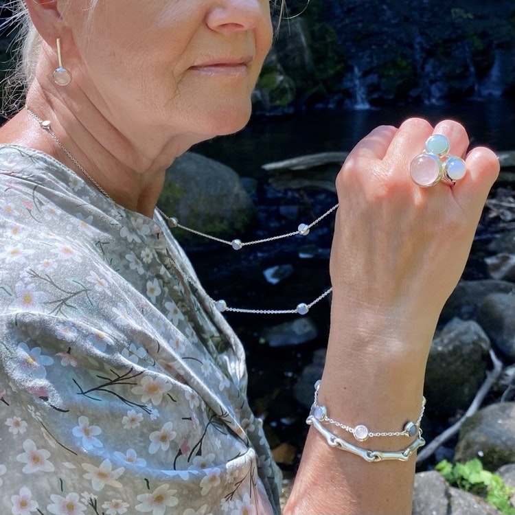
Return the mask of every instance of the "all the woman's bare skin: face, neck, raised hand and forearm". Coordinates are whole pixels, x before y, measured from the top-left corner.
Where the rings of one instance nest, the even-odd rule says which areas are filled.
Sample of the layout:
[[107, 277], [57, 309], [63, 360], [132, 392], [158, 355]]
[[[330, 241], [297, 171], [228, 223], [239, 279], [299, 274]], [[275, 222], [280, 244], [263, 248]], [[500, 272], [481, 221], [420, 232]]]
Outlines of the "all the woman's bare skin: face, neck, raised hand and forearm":
[[[100, 0], [90, 19], [88, 5], [27, 1], [44, 39], [27, 104], [51, 120], [109, 196], [151, 216], [176, 156], [247, 122], [271, 45], [268, 0]], [[58, 37], [73, 73], [64, 88], [52, 82]], [[409, 163], [431, 134], [445, 135], [450, 152], [465, 156], [468, 172], [454, 187], [420, 188], [409, 178]], [[81, 173], [26, 111], [0, 130], [0, 141], [39, 148]], [[499, 174], [491, 150], [468, 146], [457, 122], [409, 119], [373, 130], [343, 164], [319, 390], [335, 420], [391, 431], [420, 413], [439, 312]], [[407, 446], [395, 437], [370, 445]], [[368, 464], [311, 429], [284, 513], [407, 515], [414, 470], [413, 458]]]

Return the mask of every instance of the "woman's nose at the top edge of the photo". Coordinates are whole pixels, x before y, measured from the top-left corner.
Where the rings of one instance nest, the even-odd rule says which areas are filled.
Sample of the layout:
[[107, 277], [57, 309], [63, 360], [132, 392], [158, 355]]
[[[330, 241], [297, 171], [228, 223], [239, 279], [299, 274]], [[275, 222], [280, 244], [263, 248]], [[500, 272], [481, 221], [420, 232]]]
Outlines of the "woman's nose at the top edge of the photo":
[[206, 23], [218, 32], [253, 30], [268, 16], [268, 0], [221, 0], [207, 14]]

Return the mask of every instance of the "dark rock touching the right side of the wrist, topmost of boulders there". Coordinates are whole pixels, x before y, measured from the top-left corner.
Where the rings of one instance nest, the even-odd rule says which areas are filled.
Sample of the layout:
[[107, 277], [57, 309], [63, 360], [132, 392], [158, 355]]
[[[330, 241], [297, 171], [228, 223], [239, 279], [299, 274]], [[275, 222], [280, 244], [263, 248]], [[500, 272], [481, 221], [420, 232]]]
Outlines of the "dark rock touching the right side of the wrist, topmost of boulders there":
[[494, 279], [460, 281], [440, 314], [440, 322], [448, 322], [453, 317], [463, 320], [473, 319], [483, 299], [490, 293], [515, 294], [515, 284], [507, 281], [494, 281]]

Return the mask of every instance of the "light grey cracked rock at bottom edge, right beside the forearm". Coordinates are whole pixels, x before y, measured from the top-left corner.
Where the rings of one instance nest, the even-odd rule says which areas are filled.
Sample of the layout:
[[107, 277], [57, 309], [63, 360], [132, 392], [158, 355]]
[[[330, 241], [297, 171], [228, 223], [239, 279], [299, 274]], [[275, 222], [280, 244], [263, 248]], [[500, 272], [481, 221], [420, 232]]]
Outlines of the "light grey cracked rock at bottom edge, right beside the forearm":
[[412, 515], [500, 515], [483, 499], [450, 487], [439, 472], [415, 474]]

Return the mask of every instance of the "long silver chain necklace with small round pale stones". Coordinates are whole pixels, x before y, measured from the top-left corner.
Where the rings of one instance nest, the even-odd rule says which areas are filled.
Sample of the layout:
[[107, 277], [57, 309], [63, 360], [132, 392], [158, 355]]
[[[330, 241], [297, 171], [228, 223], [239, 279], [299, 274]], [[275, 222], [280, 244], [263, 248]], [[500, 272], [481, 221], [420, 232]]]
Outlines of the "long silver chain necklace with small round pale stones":
[[[93, 177], [82, 167], [82, 165], [77, 161], [77, 159], [75, 159], [75, 157], [73, 157], [71, 155], [69, 150], [60, 142], [60, 139], [56, 136], [56, 134], [52, 130], [52, 125], [51, 125], [50, 121], [41, 119], [35, 113], [33, 113], [30, 110], [30, 108], [28, 108], [27, 106], [25, 106], [25, 109], [27, 110], [27, 113], [29, 113], [29, 115], [32, 118], [34, 118], [36, 120], [36, 122], [38, 122], [38, 124], [41, 126], [41, 128], [43, 128], [43, 130], [45, 130], [52, 137], [52, 139], [54, 139], [56, 144], [58, 144], [58, 146], [62, 149], [62, 151], [65, 152], [65, 154], [70, 159], [70, 161], [74, 165], [76, 165], [76, 167], [89, 179], [89, 181], [91, 181], [91, 183], [93, 183], [93, 185], [95, 185], [97, 190], [100, 191], [100, 193], [102, 193], [111, 202], [114, 203], [113, 198], [111, 198], [111, 196], [106, 192], [106, 190], [104, 190], [104, 188], [97, 181], [95, 181], [95, 179], [93, 179]], [[290, 238], [292, 236], [307, 236], [308, 233], [310, 232], [310, 229], [312, 229], [312, 227], [314, 227], [319, 222], [321, 222], [321, 220], [323, 220], [326, 216], [330, 215], [333, 211], [335, 211], [337, 209], [337, 207], [338, 207], [338, 204], [334, 205], [333, 207], [328, 209], [328, 211], [325, 211], [325, 213], [323, 215], [319, 216], [319, 218], [314, 220], [314, 222], [311, 222], [309, 225], [304, 224], [304, 223], [300, 224], [299, 227], [297, 228], [297, 231], [292, 231], [290, 233], [280, 234], [278, 236], [271, 236], [271, 238], [263, 238], [262, 240], [254, 240], [254, 241], [250, 241], [250, 242], [242, 242], [242, 240], [240, 240], [239, 238], [235, 238], [234, 240], [222, 240], [222, 238], [216, 238], [216, 236], [211, 236], [211, 235], [203, 233], [201, 231], [196, 231], [195, 229], [191, 229], [190, 227], [186, 227], [185, 225], [181, 225], [179, 223], [179, 220], [177, 220], [177, 218], [166, 215], [159, 208], [158, 208], [158, 210], [159, 210], [159, 213], [166, 220], [166, 222], [168, 223], [170, 228], [183, 229], [184, 231], [188, 231], [190, 233], [196, 234], [197, 236], [202, 236], [203, 238], [207, 238], [209, 240], [214, 240], [219, 243], [230, 245], [233, 250], [239, 251], [243, 247], [248, 247], [250, 245], [267, 243], [267, 242], [272, 242], [275, 240], [282, 240], [283, 238]], [[174, 266], [177, 270], [179, 270], [179, 267], [175, 263], [174, 263]], [[192, 284], [196, 288], [198, 287], [197, 282], [194, 279], [192, 279], [192, 277], [190, 277], [189, 275], [185, 275], [185, 277], [186, 277], [187, 281], [190, 282], [190, 284]], [[322, 295], [319, 295], [319, 297], [317, 297], [316, 299], [311, 301], [309, 304], [306, 304], [305, 302], [301, 302], [300, 304], [297, 304], [295, 309], [287, 309], [287, 310], [266, 310], [266, 309], [258, 310], [258, 309], [245, 309], [245, 308], [231, 308], [231, 307], [227, 306], [227, 302], [225, 300], [220, 299], [220, 300], [216, 301], [216, 300], [212, 299], [211, 297], [209, 297], [209, 298], [214, 303], [214, 306], [216, 307], [216, 309], [220, 312], [235, 312], [235, 313], [249, 313], [249, 314], [302, 314], [302, 315], [304, 315], [309, 312], [309, 310], [312, 308], [312, 306], [317, 304], [323, 298], [327, 297], [331, 293], [331, 291], [332, 291], [332, 288], [328, 288], [327, 290], [325, 290], [324, 293], [322, 293]]]

